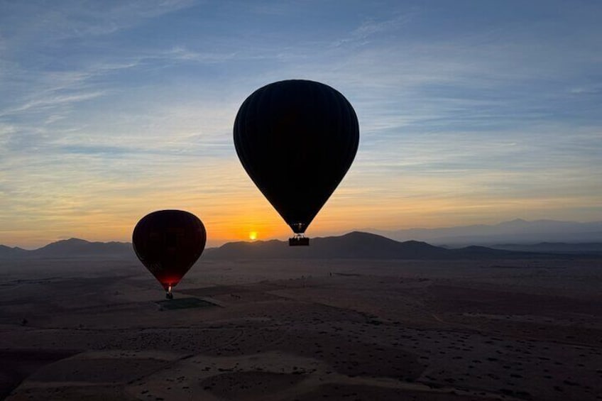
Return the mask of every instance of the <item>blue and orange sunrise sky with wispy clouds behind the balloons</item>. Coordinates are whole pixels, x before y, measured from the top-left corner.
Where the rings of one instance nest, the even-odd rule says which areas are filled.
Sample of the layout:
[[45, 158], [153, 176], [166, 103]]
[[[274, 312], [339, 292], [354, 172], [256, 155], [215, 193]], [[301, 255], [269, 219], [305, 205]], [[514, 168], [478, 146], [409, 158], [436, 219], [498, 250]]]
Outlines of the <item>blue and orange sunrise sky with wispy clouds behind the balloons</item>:
[[158, 209], [208, 246], [290, 236], [232, 128], [312, 79], [359, 150], [307, 230], [602, 220], [602, 2], [0, 0], [0, 243], [131, 241]]

